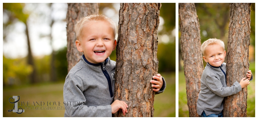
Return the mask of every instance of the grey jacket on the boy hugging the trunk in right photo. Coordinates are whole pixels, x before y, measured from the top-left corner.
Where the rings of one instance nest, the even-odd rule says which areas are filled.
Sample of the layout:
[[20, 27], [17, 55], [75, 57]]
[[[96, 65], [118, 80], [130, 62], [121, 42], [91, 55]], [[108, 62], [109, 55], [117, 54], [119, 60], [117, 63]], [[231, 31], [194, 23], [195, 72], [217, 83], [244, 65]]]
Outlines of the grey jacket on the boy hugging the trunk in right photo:
[[[253, 76], [251, 76], [251, 80], [253, 80]], [[204, 111], [206, 115], [220, 114], [223, 110], [224, 97], [236, 94], [241, 90], [241, 85], [237, 81], [231, 87], [227, 87], [226, 63], [222, 63], [220, 67], [214, 67], [207, 63], [202, 73], [197, 113], [201, 115]]]

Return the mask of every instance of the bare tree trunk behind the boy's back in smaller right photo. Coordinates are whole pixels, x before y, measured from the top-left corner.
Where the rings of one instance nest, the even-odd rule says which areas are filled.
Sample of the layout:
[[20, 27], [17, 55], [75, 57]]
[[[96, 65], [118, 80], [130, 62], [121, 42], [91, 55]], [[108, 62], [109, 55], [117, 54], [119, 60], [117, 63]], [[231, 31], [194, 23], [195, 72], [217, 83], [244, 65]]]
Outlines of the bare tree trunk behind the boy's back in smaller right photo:
[[179, 3], [181, 50], [184, 60], [189, 117], [199, 117], [196, 110], [203, 72], [200, 25], [194, 3]]

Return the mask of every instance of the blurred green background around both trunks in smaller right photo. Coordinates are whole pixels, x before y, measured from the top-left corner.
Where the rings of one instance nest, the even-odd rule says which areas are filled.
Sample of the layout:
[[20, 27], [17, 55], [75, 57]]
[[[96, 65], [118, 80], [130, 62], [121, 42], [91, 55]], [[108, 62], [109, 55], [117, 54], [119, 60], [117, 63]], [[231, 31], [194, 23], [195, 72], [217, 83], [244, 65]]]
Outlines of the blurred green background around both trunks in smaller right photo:
[[[221, 39], [224, 41], [225, 50], [227, 51], [229, 3], [195, 3], [195, 7], [200, 24], [201, 43], [203, 43], [205, 40], [208, 40], [209, 38]], [[249, 46], [249, 69], [252, 71], [253, 76], [255, 76], [255, 3], [251, 4], [250, 17], [251, 35]], [[178, 21], [178, 117], [189, 117], [185, 89], [186, 82], [184, 78], [184, 67], [180, 47], [180, 19]], [[226, 58], [224, 62], [226, 63]], [[205, 67], [207, 63], [203, 60], [203, 64]], [[255, 117], [255, 78], [247, 88], [247, 117]]]

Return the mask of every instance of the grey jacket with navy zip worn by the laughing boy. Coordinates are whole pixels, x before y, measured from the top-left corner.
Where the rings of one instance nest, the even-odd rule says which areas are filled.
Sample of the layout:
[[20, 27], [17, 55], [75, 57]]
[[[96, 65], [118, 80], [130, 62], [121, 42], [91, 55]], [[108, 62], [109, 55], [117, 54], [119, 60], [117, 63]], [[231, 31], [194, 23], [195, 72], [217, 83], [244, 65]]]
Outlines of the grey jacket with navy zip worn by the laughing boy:
[[[115, 61], [109, 57], [102, 63], [93, 64], [82, 55], [66, 76], [64, 117], [112, 117], [114, 76]], [[165, 87], [163, 79], [163, 86], [156, 94], [162, 93]]]

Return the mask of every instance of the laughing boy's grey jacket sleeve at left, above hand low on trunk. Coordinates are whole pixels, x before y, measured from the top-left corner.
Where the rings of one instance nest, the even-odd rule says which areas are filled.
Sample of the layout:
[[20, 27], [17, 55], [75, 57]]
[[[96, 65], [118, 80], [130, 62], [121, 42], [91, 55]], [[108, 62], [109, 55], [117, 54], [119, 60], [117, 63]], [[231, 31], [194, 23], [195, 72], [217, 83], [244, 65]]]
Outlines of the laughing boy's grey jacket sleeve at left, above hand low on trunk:
[[111, 105], [88, 106], [83, 94], [84, 83], [79, 76], [68, 74], [64, 83], [64, 117], [112, 117]]

